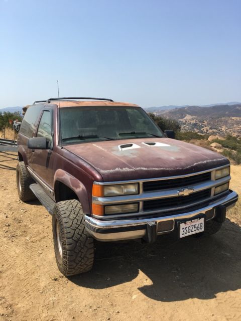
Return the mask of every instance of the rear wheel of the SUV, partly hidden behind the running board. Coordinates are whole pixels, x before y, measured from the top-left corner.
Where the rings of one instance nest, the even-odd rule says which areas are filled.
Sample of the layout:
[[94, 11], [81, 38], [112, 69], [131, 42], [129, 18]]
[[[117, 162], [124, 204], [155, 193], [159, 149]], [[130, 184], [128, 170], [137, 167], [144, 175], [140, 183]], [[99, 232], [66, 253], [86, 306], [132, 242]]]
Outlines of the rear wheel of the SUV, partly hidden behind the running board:
[[29, 188], [29, 186], [35, 182], [29, 175], [24, 162], [19, 162], [17, 165], [16, 179], [20, 200], [23, 202], [36, 200], [36, 196]]

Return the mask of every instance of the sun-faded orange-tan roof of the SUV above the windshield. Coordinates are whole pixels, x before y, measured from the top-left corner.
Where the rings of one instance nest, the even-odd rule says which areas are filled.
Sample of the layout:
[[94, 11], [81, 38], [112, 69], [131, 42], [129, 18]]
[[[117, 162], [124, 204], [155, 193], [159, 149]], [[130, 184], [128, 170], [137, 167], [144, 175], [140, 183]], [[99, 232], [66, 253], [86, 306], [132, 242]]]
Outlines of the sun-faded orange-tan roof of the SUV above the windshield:
[[75, 107], [75, 106], [130, 106], [130, 107], [140, 107], [139, 105], [128, 103], [128, 102], [118, 102], [118, 101], [102, 101], [102, 100], [88, 100], [88, 101], [78, 101], [78, 100], [54, 100], [50, 104], [55, 104], [58, 107]]

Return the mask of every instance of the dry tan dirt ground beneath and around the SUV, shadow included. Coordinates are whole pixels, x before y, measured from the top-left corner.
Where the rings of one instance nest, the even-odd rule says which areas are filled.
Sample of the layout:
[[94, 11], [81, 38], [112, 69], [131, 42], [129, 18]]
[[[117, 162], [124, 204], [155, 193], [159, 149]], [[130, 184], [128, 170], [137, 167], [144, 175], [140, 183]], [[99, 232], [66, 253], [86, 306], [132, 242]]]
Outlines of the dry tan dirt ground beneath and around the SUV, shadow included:
[[[0, 321], [241, 320], [241, 229], [154, 245], [96, 244], [91, 272], [57, 269], [51, 216], [19, 201], [15, 154], [0, 154]], [[231, 188], [239, 189], [241, 166]], [[241, 214], [239, 212], [239, 214]]]

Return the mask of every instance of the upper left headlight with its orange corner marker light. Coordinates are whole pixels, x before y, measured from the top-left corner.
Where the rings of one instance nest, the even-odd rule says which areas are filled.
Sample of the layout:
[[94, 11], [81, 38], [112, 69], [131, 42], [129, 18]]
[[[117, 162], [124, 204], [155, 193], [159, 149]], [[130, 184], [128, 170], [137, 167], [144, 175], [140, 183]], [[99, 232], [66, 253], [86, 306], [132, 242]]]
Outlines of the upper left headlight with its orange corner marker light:
[[120, 196], [134, 195], [139, 193], [139, 184], [116, 184], [116, 185], [97, 185], [93, 184], [93, 196]]

